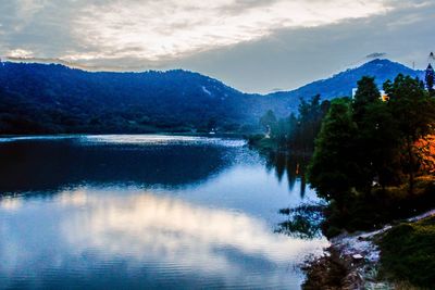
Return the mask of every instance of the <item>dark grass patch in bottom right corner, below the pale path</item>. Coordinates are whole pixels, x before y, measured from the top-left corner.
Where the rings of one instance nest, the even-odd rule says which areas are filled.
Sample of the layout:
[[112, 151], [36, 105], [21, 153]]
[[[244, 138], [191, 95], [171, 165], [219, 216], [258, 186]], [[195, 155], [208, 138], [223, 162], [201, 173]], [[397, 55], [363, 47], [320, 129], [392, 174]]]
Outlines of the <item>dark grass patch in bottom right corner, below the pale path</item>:
[[419, 287], [435, 286], [435, 217], [394, 227], [380, 247], [383, 276]]

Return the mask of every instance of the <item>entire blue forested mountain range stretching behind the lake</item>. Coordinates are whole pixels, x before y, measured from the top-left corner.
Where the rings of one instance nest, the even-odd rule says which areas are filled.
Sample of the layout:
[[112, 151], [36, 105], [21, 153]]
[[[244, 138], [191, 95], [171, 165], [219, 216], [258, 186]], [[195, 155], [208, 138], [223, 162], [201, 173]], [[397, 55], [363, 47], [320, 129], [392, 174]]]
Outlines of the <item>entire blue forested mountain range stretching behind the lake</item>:
[[268, 110], [286, 116], [300, 98], [350, 96], [364, 75], [378, 85], [397, 74], [421, 76], [388, 60], [297, 90], [248, 94], [187, 71], [91, 73], [60, 64], [0, 65], [0, 134], [224, 131], [258, 124]]

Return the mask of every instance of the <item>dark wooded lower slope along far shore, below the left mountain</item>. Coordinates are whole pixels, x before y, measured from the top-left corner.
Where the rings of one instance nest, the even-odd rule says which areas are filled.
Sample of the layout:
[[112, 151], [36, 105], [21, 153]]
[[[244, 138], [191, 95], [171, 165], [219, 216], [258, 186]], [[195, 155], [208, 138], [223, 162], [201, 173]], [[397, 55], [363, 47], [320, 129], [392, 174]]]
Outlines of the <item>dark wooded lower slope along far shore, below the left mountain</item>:
[[[174, 104], [172, 104], [174, 105]], [[156, 109], [154, 109], [156, 108]], [[200, 110], [101, 100], [39, 101], [0, 88], [0, 135], [245, 133], [249, 122]]]

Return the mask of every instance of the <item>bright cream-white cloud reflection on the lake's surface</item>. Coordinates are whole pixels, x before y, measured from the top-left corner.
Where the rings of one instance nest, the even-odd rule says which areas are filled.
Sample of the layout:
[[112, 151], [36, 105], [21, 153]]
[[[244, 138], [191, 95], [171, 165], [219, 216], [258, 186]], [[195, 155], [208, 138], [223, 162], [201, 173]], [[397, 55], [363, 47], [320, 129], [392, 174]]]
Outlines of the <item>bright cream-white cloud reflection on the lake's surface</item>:
[[[86, 238], [97, 248], [115, 252], [136, 249], [133, 252], [140, 253], [148, 245], [165, 250], [183, 248], [183, 243], [167, 239], [176, 237], [179, 241], [188, 239], [198, 243], [196, 249], [231, 247], [273, 262], [281, 261], [283, 254], [293, 255], [306, 245], [302, 240], [289, 242], [287, 237], [273, 235], [263, 220], [244, 213], [207, 209], [149, 192], [129, 192], [128, 198], [101, 193], [101, 189], [82, 189], [59, 196], [64, 205], [82, 207], [74, 219], [64, 220], [67, 232], [74, 232], [69, 237], [71, 242]], [[75, 230], [75, 227], [79, 229]], [[113, 234], [122, 239], [112, 239]]]

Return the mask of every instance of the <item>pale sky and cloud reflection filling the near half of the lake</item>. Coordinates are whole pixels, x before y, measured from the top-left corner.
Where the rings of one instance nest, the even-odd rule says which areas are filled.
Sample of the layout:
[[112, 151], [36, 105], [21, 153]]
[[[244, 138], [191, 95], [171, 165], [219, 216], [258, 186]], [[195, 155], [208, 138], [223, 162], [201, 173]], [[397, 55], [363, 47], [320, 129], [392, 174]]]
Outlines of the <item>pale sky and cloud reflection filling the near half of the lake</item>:
[[[125, 286], [196, 288], [207, 278], [211, 288], [297, 289], [301, 276], [293, 267], [324, 244], [274, 235], [263, 219], [245, 213], [138, 188], [77, 188], [48, 203], [34, 200], [15, 209], [11, 200], [0, 202], [5, 210], [0, 217], [8, 225], [2, 229], [0, 280], [7, 287], [14, 287], [8, 283], [16, 282], [14, 277], [26, 277], [21, 281], [26, 287], [57, 287], [62, 279], [101, 287], [120, 283], [127, 270], [136, 280], [125, 280]], [[44, 227], [23, 232], [29, 215], [32, 225]], [[114, 269], [121, 273], [111, 276]]]

